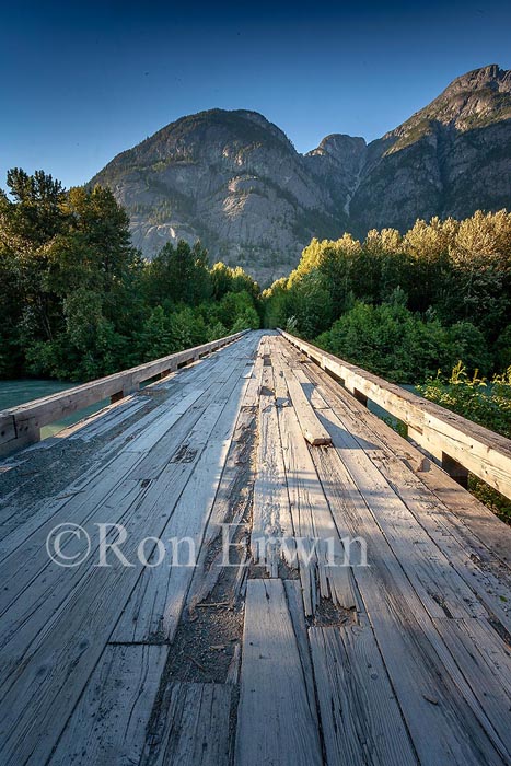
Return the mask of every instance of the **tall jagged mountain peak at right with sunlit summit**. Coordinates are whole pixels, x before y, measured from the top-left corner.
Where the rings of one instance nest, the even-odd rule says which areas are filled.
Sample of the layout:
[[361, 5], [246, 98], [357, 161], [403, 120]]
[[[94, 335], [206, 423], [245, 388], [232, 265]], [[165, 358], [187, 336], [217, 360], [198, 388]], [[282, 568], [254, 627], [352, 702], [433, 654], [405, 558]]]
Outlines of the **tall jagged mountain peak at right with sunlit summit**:
[[511, 71], [491, 65], [369, 144], [350, 219], [363, 234], [502, 207], [511, 208]]

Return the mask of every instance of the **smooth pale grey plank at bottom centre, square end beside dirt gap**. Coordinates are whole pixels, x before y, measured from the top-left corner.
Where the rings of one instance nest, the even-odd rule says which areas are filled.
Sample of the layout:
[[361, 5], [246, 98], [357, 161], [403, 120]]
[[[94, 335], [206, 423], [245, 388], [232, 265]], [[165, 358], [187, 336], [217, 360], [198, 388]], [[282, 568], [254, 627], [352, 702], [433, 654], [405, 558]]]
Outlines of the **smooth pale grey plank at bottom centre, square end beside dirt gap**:
[[235, 764], [322, 763], [282, 581], [248, 580]]

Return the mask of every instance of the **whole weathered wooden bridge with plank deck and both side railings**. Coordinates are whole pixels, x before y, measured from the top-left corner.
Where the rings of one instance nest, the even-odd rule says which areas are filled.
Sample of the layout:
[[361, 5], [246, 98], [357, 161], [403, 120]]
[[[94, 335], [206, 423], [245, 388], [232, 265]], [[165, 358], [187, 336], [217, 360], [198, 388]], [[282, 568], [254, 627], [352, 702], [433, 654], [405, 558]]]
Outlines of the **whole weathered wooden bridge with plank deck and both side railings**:
[[511, 763], [511, 530], [461, 486], [511, 495], [506, 439], [252, 332], [0, 445], [2, 766]]

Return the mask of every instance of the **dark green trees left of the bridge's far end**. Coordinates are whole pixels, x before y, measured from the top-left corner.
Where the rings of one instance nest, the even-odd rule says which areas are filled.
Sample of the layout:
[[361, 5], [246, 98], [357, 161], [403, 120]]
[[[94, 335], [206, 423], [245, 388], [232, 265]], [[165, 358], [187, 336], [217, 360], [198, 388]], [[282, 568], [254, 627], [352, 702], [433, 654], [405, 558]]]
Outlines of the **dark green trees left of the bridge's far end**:
[[0, 378], [86, 381], [258, 327], [259, 288], [199, 244], [147, 262], [112, 192], [43, 171], [0, 190]]

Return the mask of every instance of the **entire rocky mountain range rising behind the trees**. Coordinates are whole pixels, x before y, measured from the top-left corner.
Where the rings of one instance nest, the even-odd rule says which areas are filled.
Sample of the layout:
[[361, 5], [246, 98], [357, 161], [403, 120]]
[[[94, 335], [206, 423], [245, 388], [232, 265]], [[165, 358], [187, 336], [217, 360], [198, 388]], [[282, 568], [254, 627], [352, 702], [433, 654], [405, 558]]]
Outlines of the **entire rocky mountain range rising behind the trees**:
[[200, 239], [267, 283], [312, 236], [510, 208], [511, 71], [468, 72], [381, 139], [336, 134], [304, 155], [256, 112], [201, 112], [118, 154], [95, 183], [127, 208], [148, 257]]

